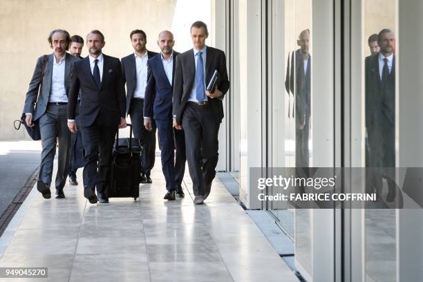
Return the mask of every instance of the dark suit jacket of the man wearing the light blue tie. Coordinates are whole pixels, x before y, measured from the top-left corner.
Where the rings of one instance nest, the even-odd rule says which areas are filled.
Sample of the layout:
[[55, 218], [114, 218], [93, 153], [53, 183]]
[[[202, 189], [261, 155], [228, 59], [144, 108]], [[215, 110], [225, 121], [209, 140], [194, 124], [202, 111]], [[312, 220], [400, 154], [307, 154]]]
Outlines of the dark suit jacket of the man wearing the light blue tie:
[[[229, 90], [229, 79], [227, 77], [226, 57], [222, 50], [207, 46], [207, 57], [205, 66], [206, 86], [212, 79], [214, 70], [220, 75], [218, 88], [223, 95]], [[176, 58], [175, 82], [173, 86], [173, 115], [176, 115], [176, 122], [182, 124], [182, 115], [187, 105], [189, 94], [191, 93], [196, 79], [196, 66], [194, 59], [194, 49], [181, 53]], [[222, 96], [224, 97], [224, 96]], [[223, 119], [222, 99], [214, 98], [209, 100], [209, 106], [217, 123]]]

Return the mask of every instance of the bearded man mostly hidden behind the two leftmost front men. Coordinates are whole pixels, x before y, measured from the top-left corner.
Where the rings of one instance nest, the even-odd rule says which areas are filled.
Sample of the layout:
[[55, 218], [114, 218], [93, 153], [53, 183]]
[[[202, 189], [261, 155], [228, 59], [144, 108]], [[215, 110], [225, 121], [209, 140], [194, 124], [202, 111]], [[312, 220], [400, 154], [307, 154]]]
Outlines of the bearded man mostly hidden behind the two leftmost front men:
[[[69, 51], [73, 56], [82, 59], [81, 53], [82, 47], [84, 47], [84, 39], [79, 35], [73, 35], [71, 41], [71, 48], [69, 48]], [[79, 112], [79, 109], [77, 109], [77, 112]], [[71, 138], [71, 158], [69, 160], [70, 185], [78, 185], [76, 172], [80, 167], [84, 167], [84, 147], [82, 146], [81, 131], [77, 131], [77, 133], [72, 133]]]

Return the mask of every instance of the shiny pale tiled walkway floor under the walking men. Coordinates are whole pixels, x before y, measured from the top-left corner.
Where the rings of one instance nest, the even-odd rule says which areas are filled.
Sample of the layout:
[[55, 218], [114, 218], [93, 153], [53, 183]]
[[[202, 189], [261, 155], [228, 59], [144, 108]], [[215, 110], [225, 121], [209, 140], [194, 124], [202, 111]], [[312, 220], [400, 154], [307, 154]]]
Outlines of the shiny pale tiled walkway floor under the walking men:
[[91, 205], [81, 184], [61, 200], [32, 189], [0, 238], [0, 267], [48, 267], [33, 281], [298, 281], [217, 178], [205, 205], [189, 176], [186, 197], [168, 202], [156, 164], [140, 202]]

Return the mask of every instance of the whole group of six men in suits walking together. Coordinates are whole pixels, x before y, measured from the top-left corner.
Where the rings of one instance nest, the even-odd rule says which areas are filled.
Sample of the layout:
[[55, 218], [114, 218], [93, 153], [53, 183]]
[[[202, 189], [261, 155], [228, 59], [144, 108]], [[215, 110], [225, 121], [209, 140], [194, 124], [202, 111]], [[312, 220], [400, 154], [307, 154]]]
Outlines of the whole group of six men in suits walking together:
[[[165, 30], [158, 37], [161, 52], [157, 54], [147, 50], [145, 32], [133, 30], [130, 38], [135, 52], [121, 63], [102, 53], [105, 41], [99, 30], [88, 33], [89, 55], [83, 59], [66, 53], [71, 47], [71, 53], [79, 56], [82, 38], [81, 42], [75, 37], [73, 42], [78, 44], [71, 46], [66, 30], [53, 30], [48, 41], [55, 52], [45, 66], [44, 56], [38, 59], [24, 109], [26, 123], [33, 126], [37, 121], [41, 129], [43, 151], [37, 189], [44, 198], [50, 198], [56, 143], [56, 198], [64, 198], [66, 176], [69, 173], [71, 184], [77, 184], [75, 171], [80, 167], [73, 158], [73, 169], [69, 169], [71, 144], [76, 152], [80, 148], [76, 142], [82, 140], [84, 196], [90, 203], [109, 203], [107, 186], [115, 133], [126, 127], [126, 116], [131, 115], [135, 138], [142, 145], [142, 182], [152, 182], [157, 129], [167, 189], [164, 199], [184, 197], [181, 183], [188, 160], [194, 204], [203, 204], [216, 175], [222, 99], [229, 89], [225, 54], [205, 46], [207, 37], [205, 23], [196, 21], [191, 26], [194, 48], [179, 54], [173, 51], [173, 35]], [[220, 81], [210, 93], [206, 85], [214, 71], [220, 74]]]

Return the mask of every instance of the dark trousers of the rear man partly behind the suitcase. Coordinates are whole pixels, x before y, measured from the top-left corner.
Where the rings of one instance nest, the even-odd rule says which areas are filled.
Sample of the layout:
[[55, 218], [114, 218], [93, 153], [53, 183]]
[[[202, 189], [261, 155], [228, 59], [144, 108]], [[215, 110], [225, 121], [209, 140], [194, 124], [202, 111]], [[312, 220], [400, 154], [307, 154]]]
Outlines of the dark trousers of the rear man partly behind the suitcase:
[[131, 101], [131, 123], [133, 126], [133, 135], [140, 140], [142, 146], [141, 151], [141, 167], [143, 173], [150, 175], [151, 169], [154, 167], [156, 158], [156, 122], [152, 120], [153, 130], [148, 131], [144, 127], [144, 99], [133, 99]]

